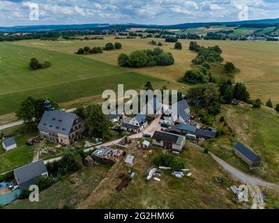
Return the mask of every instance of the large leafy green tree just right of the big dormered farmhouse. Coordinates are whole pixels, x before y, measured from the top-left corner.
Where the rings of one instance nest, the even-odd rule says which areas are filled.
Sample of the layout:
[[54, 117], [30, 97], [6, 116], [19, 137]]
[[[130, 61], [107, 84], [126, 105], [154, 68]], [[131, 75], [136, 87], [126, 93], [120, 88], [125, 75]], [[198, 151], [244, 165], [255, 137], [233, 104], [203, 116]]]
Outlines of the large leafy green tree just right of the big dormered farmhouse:
[[103, 114], [100, 105], [89, 105], [85, 108], [85, 123], [89, 134], [93, 137], [109, 139], [112, 123]]

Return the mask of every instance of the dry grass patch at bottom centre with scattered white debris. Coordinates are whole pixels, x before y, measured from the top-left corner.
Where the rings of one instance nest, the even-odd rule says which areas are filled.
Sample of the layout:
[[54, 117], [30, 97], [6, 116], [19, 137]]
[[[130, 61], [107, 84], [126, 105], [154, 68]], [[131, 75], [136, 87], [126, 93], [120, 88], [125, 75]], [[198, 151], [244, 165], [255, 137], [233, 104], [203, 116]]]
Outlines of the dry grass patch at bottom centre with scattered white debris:
[[151, 167], [153, 155], [144, 158], [138, 149], [130, 153], [135, 155], [134, 182], [117, 192], [115, 187], [121, 183], [119, 174], [127, 173], [128, 168], [123, 162], [115, 164], [98, 190], [80, 203], [79, 208], [239, 208], [232, 202], [232, 194], [226, 186], [214, 180], [214, 176], [225, 175], [209, 155], [187, 148], [181, 157], [193, 176], [175, 178], [171, 171], [163, 171], [158, 182], [146, 180], [145, 171]]

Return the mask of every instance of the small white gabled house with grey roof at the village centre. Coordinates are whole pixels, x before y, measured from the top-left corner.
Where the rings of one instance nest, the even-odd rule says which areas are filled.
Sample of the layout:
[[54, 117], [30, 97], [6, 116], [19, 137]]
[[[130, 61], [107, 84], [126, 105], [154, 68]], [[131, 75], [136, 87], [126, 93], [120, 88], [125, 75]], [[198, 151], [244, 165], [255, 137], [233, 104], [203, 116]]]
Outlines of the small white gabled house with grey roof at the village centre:
[[124, 118], [121, 130], [129, 132], [140, 132], [147, 125], [147, 119], [144, 114], [137, 114], [133, 118]]

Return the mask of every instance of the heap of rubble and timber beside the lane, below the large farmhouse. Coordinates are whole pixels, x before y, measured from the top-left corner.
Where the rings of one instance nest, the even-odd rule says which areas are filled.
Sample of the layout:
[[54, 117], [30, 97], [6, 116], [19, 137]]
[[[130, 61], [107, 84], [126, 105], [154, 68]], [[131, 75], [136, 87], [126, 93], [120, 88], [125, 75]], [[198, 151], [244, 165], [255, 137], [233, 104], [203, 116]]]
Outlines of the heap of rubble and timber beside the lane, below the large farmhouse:
[[95, 160], [105, 161], [105, 162], [117, 162], [123, 155], [123, 151], [119, 149], [112, 149], [106, 146], [101, 146], [96, 151], [93, 151], [92, 156]]

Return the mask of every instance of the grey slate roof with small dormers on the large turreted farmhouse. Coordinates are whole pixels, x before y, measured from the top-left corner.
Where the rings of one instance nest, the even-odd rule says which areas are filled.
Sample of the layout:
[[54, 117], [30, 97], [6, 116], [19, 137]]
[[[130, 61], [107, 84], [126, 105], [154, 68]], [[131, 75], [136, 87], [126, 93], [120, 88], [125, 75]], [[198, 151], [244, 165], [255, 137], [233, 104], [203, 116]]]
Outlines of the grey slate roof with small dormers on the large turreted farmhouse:
[[59, 112], [56, 110], [45, 111], [42, 118], [40, 118], [38, 128], [60, 134], [69, 134], [76, 118], [77, 115], [73, 113]]

